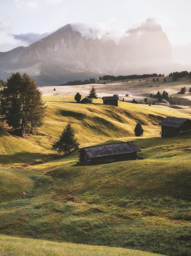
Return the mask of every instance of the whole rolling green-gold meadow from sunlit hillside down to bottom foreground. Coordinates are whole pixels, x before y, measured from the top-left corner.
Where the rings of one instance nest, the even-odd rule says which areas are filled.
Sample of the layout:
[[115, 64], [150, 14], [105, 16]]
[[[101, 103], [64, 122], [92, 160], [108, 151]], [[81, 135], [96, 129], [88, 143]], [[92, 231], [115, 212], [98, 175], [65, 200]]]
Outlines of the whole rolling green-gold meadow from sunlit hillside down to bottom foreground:
[[[44, 100], [34, 135], [0, 128], [0, 254], [191, 255], [191, 133], [160, 138], [157, 125], [166, 116], [191, 118], [191, 109]], [[69, 121], [80, 147], [134, 140], [139, 160], [82, 166], [77, 150], [58, 156], [51, 144]]]

